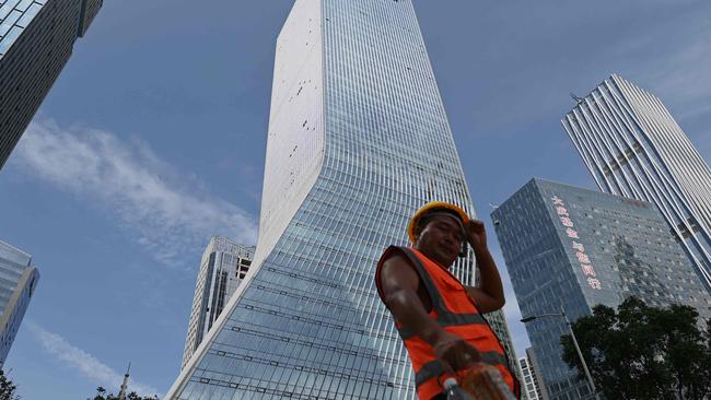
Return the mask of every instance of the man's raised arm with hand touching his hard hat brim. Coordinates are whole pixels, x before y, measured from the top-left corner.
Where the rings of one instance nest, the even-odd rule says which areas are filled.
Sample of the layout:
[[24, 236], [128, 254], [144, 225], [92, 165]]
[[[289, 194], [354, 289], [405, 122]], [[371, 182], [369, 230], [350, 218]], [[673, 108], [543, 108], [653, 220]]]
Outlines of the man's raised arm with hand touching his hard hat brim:
[[467, 240], [474, 248], [479, 267], [479, 286], [466, 286], [479, 311], [491, 313], [506, 303], [497, 263], [487, 247], [487, 232], [481, 221], [470, 220], [466, 227]]

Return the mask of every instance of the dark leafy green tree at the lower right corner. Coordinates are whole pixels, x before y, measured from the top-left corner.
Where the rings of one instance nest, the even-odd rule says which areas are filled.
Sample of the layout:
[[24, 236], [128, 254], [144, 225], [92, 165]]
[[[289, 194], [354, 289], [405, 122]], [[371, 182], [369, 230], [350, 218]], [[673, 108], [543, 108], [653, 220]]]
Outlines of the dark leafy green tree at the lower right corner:
[[[699, 328], [693, 307], [650, 307], [629, 297], [617, 311], [595, 306], [573, 331], [607, 399], [702, 400], [711, 395], [711, 320], [706, 326]], [[570, 334], [561, 344], [563, 361], [582, 372]]]

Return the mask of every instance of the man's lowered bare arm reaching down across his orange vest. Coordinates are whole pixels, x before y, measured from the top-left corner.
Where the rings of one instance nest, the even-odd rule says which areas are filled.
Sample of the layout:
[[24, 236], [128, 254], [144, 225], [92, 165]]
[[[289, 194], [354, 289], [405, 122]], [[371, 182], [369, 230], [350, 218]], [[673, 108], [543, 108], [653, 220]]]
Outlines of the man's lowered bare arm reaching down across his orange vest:
[[448, 333], [429, 316], [429, 295], [421, 286], [420, 278], [401, 256], [387, 259], [381, 269], [383, 301], [393, 317], [416, 336], [432, 345], [434, 355], [453, 370], [473, 365], [479, 352], [469, 343]]

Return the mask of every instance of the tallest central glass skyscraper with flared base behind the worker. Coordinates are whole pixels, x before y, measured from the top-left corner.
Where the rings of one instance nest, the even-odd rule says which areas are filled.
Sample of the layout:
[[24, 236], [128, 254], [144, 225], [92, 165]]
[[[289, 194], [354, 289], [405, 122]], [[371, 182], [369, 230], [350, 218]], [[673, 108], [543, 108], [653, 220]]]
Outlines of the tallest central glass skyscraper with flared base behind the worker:
[[[253, 270], [167, 398], [415, 398], [374, 272], [435, 199], [474, 214], [412, 2], [298, 0], [277, 42]], [[474, 282], [471, 251], [454, 272]]]

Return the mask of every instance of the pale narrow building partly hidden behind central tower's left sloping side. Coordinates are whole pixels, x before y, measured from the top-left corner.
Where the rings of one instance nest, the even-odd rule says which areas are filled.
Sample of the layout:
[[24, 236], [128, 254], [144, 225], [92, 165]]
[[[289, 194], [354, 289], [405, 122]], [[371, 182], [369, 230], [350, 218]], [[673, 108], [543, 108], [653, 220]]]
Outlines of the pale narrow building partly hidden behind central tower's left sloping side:
[[195, 284], [180, 369], [190, 360], [193, 352], [224, 309], [224, 305], [247, 275], [253, 258], [254, 247], [242, 246], [219, 236], [210, 239], [202, 254]]

